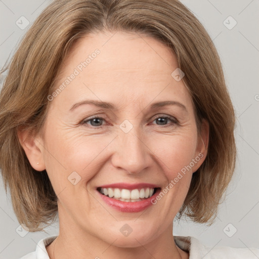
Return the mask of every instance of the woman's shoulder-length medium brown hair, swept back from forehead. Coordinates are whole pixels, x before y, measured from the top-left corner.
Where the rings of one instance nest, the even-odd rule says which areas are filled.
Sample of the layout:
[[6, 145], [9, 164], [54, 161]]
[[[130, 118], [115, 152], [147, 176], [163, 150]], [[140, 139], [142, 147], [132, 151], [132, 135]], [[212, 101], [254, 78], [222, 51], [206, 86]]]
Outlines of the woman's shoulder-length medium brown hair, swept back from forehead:
[[32, 168], [17, 132], [40, 132], [62, 61], [73, 42], [95, 31], [149, 35], [176, 54], [198, 130], [203, 118], [209, 123], [208, 153], [192, 176], [178, 218], [185, 214], [211, 225], [235, 167], [235, 114], [211, 38], [176, 0], [58, 0], [32, 24], [5, 68], [0, 96], [0, 167], [18, 221], [30, 231], [42, 230], [55, 220], [58, 206], [46, 170]]

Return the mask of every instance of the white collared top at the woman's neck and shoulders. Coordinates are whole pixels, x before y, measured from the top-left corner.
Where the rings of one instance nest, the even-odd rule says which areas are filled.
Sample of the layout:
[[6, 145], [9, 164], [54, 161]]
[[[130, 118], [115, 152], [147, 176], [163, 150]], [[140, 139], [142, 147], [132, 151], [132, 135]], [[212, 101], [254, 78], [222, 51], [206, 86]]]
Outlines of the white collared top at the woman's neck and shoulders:
[[[20, 259], [50, 259], [46, 245], [50, 244], [57, 236], [41, 239], [36, 246], [36, 251], [24, 255]], [[189, 259], [257, 259], [257, 248], [233, 248], [228, 246], [206, 247], [194, 237], [174, 236], [178, 247], [190, 253]]]

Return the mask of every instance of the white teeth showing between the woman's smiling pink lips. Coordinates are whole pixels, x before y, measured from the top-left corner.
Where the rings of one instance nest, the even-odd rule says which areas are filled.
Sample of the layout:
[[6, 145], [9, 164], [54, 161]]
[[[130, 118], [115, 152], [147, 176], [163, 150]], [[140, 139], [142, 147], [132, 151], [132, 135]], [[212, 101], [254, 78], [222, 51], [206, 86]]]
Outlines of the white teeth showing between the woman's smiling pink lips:
[[120, 188], [101, 188], [98, 187], [97, 191], [102, 195], [109, 198], [125, 201], [125, 202], [136, 202], [146, 200], [152, 197], [160, 188], [141, 188], [141, 189], [120, 189]]

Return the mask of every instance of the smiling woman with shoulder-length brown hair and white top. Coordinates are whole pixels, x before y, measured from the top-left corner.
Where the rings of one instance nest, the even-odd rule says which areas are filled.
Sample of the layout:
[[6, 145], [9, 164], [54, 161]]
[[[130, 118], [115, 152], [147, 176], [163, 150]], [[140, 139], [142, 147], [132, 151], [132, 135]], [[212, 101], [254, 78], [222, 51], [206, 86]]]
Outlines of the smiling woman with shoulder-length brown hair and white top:
[[55, 1], [14, 55], [0, 105], [19, 222], [33, 232], [59, 217], [58, 237], [23, 259], [259, 256], [172, 236], [177, 215], [213, 223], [236, 156], [220, 59], [180, 2]]

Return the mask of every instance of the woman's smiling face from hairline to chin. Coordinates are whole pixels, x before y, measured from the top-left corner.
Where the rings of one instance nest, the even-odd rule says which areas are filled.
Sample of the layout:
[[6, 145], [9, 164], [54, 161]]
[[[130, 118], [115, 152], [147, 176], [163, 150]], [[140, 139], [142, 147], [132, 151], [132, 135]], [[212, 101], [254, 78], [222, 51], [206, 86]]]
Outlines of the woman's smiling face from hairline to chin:
[[[171, 235], [206, 155], [190, 95], [171, 75], [177, 68], [175, 54], [143, 35], [92, 33], [73, 45], [37, 138], [60, 231], [121, 247]], [[139, 201], [152, 188], [160, 189]]]

